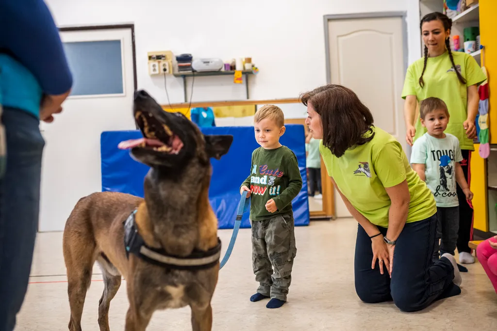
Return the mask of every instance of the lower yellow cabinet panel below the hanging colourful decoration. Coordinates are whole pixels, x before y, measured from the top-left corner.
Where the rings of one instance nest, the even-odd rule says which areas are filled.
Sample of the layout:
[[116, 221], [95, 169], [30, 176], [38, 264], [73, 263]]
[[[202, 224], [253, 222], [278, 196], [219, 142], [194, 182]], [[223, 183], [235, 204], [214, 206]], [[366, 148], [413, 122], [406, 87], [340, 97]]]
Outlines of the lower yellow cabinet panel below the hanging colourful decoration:
[[487, 209], [487, 162], [480, 157], [478, 149], [480, 144], [475, 144], [475, 151], [471, 153], [471, 181], [470, 190], [474, 197], [473, 227], [481, 231], [489, 231], [489, 218]]

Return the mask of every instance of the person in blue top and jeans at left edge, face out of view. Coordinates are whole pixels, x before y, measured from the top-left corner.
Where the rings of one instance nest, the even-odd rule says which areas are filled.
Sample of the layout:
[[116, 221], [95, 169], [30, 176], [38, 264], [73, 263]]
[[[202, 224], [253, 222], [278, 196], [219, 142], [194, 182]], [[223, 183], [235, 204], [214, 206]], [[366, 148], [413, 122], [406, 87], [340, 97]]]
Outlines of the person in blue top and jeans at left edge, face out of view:
[[38, 228], [40, 120], [62, 111], [73, 77], [43, 0], [1, 0], [0, 31], [0, 330], [13, 331]]

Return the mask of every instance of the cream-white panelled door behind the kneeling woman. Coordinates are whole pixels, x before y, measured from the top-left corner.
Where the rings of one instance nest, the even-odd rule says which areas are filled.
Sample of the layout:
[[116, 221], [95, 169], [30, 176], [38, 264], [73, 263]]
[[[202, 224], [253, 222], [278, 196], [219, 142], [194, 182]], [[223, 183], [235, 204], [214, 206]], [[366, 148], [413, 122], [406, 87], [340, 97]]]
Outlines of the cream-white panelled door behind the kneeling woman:
[[[401, 98], [405, 77], [403, 17], [328, 21], [331, 83], [352, 89], [371, 110], [376, 127], [394, 135], [408, 152]], [[350, 217], [335, 192], [336, 217]]]

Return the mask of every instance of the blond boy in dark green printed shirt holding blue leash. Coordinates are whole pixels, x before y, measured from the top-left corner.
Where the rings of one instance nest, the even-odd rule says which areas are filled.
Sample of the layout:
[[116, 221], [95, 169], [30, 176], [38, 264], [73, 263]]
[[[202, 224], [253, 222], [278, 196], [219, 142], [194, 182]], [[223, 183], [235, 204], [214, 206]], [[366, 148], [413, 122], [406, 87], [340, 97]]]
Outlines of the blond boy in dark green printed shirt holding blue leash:
[[250, 301], [270, 297], [267, 308], [286, 302], [297, 253], [292, 200], [302, 189], [302, 177], [297, 157], [279, 142], [284, 121], [283, 111], [274, 105], [255, 113], [255, 140], [260, 147], [253, 151], [250, 175], [240, 187], [240, 193], [250, 195], [253, 272], [260, 284]]

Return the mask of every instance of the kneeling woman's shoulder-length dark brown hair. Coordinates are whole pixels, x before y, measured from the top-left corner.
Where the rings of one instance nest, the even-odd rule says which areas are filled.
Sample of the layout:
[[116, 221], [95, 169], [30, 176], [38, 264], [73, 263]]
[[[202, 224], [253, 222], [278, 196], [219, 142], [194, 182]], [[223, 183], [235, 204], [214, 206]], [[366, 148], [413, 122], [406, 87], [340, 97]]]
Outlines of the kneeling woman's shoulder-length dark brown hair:
[[373, 115], [351, 89], [328, 84], [301, 94], [300, 101], [321, 116], [323, 145], [334, 156], [373, 139]]

